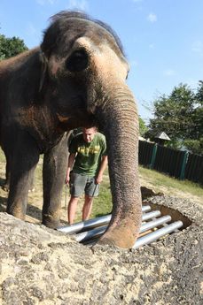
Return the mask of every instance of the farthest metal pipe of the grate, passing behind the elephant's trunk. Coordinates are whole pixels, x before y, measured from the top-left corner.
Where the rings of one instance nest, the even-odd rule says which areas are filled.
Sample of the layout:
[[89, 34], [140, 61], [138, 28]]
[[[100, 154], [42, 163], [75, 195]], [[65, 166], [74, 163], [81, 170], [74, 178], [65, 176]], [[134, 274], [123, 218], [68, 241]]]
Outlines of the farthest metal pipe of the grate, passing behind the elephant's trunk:
[[[150, 205], [145, 205], [142, 207], [142, 212], [146, 212], [148, 210], [151, 210]], [[77, 232], [84, 231], [84, 230], [90, 230], [99, 225], [107, 225], [109, 223], [109, 221], [111, 220], [111, 217], [112, 217], [112, 215], [109, 214], [109, 215], [93, 218], [90, 220], [82, 221], [82, 222], [76, 223], [74, 225], [60, 226], [59, 228], [57, 228], [57, 230], [60, 232], [65, 232], [65, 233], [69, 233], [69, 234], [77, 233]]]

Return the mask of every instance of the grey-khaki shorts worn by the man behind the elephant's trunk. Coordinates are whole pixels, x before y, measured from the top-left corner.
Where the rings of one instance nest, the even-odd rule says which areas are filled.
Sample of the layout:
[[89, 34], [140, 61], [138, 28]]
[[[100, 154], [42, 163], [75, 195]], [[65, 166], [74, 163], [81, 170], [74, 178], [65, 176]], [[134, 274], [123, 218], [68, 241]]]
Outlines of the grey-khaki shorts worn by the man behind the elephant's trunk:
[[81, 175], [71, 172], [70, 175], [70, 194], [73, 197], [80, 197], [83, 193], [90, 197], [97, 197], [99, 184], [95, 183], [95, 177]]

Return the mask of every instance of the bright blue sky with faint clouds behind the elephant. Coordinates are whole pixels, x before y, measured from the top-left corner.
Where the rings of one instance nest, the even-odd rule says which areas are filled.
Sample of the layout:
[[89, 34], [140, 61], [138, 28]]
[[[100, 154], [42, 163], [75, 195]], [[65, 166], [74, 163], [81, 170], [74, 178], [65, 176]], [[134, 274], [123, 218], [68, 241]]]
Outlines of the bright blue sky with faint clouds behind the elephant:
[[49, 18], [79, 9], [108, 23], [129, 60], [129, 87], [139, 114], [152, 118], [152, 102], [186, 83], [203, 80], [203, 0], [0, 0], [0, 34], [28, 48], [42, 42]]

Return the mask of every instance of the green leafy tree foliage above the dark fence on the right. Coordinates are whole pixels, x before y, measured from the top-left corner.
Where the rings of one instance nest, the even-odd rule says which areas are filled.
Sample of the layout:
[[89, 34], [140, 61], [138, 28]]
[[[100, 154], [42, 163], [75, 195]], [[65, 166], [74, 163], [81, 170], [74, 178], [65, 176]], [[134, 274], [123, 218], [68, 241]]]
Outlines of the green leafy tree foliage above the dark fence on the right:
[[168, 134], [168, 146], [185, 148], [203, 154], [203, 81], [196, 92], [180, 84], [170, 95], [160, 95], [153, 103], [154, 118], [148, 136], [153, 140], [160, 133]]

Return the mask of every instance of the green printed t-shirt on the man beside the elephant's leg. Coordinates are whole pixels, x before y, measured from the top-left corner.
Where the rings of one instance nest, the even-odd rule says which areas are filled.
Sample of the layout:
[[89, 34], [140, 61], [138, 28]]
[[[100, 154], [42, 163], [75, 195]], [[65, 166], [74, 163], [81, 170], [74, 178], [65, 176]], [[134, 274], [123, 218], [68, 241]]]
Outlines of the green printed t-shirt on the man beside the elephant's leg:
[[102, 156], [106, 156], [105, 136], [96, 133], [89, 143], [83, 140], [82, 133], [77, 134], [69, 146], [70, 154], [77, 154], [74, 160], [74, 172], [87, 176], [96, 176]]

